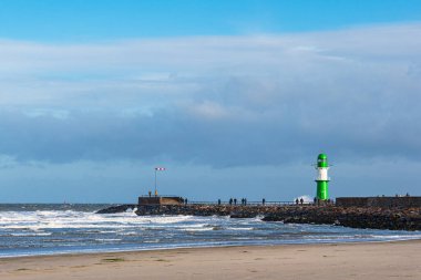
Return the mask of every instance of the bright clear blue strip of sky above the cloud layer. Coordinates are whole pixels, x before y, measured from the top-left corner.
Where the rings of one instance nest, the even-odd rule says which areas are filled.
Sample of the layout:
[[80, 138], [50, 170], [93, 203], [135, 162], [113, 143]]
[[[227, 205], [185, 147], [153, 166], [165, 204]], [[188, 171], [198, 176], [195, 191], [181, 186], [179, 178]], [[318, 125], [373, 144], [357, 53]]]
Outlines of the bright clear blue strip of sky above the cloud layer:
[[0, 37], [74, 42], [302, 32], [412, 22], [418, 0], [2, 0]]

